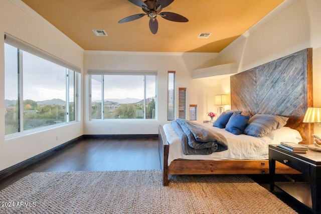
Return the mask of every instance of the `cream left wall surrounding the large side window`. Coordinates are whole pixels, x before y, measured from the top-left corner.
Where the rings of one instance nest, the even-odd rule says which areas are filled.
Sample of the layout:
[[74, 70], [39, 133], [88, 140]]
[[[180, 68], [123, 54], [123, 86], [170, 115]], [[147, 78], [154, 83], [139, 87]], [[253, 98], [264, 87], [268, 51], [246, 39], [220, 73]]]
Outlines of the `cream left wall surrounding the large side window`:
[[[0, 112], [5, 112], [4, 35], [11, 34], [83, 69], [84, 50], [19, 0], [0, 1]], [[79, 83], [82, 81], [79, 80]], [[82, 94], [81, 91], [80, 95]], [[82, 103], [80, 102], [81, 106]], [[82, 111], [78, 118], [82, 120]], [[83, 134], [82, 121], [5, 140], [5, 115], [0, 114], [0, 170]], [[59, 140], [56, 140], [59, 136]]]

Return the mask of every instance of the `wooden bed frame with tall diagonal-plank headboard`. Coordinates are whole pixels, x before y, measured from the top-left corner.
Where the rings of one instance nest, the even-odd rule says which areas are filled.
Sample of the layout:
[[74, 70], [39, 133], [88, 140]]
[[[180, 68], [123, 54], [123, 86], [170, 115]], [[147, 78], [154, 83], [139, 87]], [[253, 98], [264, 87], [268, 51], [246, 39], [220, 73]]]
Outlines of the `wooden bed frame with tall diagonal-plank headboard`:
[[[267, 114], [287, 117], [288, 120], [283, 130], [296, 130], [302, 138], [300, 143], [311, 144], [313, 142], [311, 137], [313, 125], [302, 123], [306, 109], [312, 106], [311, 48], [233, 75], [230, 77], [230, 82], [231, 109], [241, 111], [243, 115], [249, 116]], [[202, 125], [211, 126], [212, 124]], [[266, 157], [267, 146], [263, 149], [265, 154], [261, 157], [254, 157], [254, 155], [248, 158], [242, 154], [234, 155], [232, 158], [231, 156], [224, 157], [223, 154], [214, 158], [209, 155], [189, 155], [187, 157], [182, 151], [177, 150], [179, 143], [173, 144], [173, 141], [177, 140], [175, 139], [177, 135], [175, 132], [169, 134], [173, 131], [170, 126], [171, 124], [165, 124], [158, 127], [158, 150], [161, 157], [164, 185], [169, 184], [169, 175], [175, 174], [269, 173], [268, 158]], [[220, 131], [225, 132], [224, 129]], [[281, 130], [281, 132], [283, 131]], [[233, 137], [229, 133], [225, 134], [228, 135], [227, 138]], [[241, 138], [246, 141], [247, 136], [242, 135]], [[277, 139], [265, 138], [262, 141], [262, 145], [278, 143]], [[279, 163], [276, 165], [276, 173], [298, 172]]]

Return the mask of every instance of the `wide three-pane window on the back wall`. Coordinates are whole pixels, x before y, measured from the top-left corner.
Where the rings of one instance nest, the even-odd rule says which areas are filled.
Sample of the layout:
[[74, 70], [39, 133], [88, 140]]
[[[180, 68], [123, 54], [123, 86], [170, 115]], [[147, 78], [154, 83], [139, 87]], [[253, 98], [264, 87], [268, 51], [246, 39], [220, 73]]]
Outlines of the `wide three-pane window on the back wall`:
[[92, 74], [91, 119], [155, 119], [155, 91], [154, 72]]

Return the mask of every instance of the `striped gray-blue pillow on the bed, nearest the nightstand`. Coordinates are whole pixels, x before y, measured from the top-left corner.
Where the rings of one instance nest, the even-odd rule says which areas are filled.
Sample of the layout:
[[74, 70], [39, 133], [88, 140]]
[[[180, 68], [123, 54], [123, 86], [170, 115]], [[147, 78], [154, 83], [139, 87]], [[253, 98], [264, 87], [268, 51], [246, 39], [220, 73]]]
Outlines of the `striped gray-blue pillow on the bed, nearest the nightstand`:
[[271, 131], [283, 127], [288, 119], [288, 117], [272, 114], [255, 114], [249, 119], [243, 133], [254, 137], [264, 137]]

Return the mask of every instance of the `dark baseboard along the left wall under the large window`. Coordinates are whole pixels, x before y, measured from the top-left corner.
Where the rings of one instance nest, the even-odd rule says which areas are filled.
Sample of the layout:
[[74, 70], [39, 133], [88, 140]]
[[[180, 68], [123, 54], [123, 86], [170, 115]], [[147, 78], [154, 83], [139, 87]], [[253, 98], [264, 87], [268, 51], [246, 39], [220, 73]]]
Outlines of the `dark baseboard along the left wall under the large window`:
[[69, 140], [69, 141], [67, 141], [67, 142], [65, 142], [65, 143], [63, 143], [63, 144], [61, 144], [59, 146], [56, 146], [56, 147], [54, 147], [52, 149], [49, 149], [49, 150], [47, 150], [47, 151], [45, 151], [43, 153], [40, 153], [40, 154], [38, 154], [38, 155], [36, 155], [34, 157], [31, 157], [31, 158], [29, 158], [27, 160], [24, 160], [24, 161], [22, 161], [20, 163], [17, 163], [17, 164], [15, 164], [13, 166], [10, 166], [10, 167], [8, 167], [6, 169], [1, 170], [0, 171], [0, 180], [2, 180], [3, 178], [5, 178], [5, 177], [7, 177], [7, 176], [9, 176], [9, 175], [21, 170], [21, 169], [33, 164], [33, 163], [35, 163], [35, 162], [37, 162], [37, 161], [39, 161], [41, 159], [44, 159], [44, 158], [54, 154], [55, 152], [57, 152], [57, 151], [59, 151], [61, 149], [66, 148], [67, 146], [69, 146], [71, 144], [77, 143], [78, 141], [82, 140], [83, 138], [84, 138], [83, 135], [80, 136], [80, 137], [74, 138], [74, 139]]

